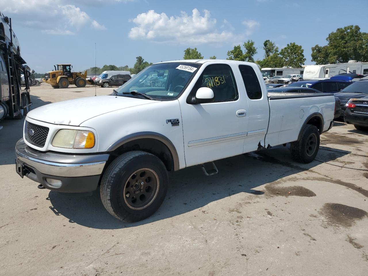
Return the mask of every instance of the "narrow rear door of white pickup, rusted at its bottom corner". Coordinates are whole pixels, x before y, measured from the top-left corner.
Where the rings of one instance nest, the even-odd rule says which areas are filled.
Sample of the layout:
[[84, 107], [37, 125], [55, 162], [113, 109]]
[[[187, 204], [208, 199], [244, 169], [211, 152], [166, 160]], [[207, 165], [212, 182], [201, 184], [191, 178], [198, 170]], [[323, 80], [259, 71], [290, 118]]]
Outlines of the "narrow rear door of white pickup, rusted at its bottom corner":
[[[242, 84], [244, 85], [248, 101], [249, 118], [247, 137], [245, 138], [243, 152], [255, 151], [258, 145], [264, 145], [265, 135], [268, 128], [269, 121], [269, 104], [267, 99], [267, 90], [264, 83], [259, 81], [254, 68], [249, 65], [239, 65], [240, 74], [242, 77]], [[241, 84], [238, 84], [240, 87]], [[262, 93], [262, 86], [265, 94]]]

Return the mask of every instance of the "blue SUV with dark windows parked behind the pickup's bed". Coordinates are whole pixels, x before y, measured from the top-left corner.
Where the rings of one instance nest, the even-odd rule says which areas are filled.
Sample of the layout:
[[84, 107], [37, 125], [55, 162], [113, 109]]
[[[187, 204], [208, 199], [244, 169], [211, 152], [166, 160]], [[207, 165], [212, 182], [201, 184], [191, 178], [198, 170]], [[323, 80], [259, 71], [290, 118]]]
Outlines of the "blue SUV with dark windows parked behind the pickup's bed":
[[309, 81], [293, 82], [290, 86], [313, 88], [324, 93], [339, 93], [340, 90], [351, 84], [350, 81], [333, 79], [310, 79]]

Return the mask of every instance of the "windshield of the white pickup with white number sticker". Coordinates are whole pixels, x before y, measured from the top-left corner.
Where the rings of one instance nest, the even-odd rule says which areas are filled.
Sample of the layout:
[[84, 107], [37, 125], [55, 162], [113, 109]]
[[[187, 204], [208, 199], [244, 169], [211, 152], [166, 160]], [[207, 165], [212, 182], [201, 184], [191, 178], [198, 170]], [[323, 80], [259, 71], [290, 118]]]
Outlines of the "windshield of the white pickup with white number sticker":
[[183, 91], [200, 65], [185, 62], [153, 64], [116, 89], [115, 95], [134, 96], [129, 93], [135, 91], [154, 99], [174, 99]]

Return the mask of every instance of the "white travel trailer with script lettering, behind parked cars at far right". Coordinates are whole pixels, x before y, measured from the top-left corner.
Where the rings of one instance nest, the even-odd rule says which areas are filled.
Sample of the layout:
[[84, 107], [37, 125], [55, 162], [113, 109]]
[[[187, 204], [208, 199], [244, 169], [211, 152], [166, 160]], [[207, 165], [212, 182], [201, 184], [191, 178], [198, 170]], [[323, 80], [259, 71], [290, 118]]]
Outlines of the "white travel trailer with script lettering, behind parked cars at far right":
[[304, 68], [303, 79], [308, 80], [330, 78], [343, 73], [368, 75], [368, 63], [349, 60], [347, 63], [307, 65]]

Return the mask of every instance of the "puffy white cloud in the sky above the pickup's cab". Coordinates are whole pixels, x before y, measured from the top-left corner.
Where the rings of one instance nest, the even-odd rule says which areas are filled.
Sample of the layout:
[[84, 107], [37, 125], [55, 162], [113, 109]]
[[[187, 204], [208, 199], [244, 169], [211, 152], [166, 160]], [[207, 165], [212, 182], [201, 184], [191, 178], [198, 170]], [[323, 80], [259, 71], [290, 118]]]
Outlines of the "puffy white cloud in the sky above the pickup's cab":
[[[138, 14], [130, 20], [136, 26], [131, 28], [129, 38], [148, 39], [156, 42], [212, 43], [233, 38], [233, 33], [216, 29], [216, 19], [204, 10], [204, 16], [195, 8], [192, 14], [181, 12], [180, 16], [158, 14], [154, 10]], [[226, 21], [227, 22], [227, 21]], [[225, 27], [224, 25], [222, 27]]]

